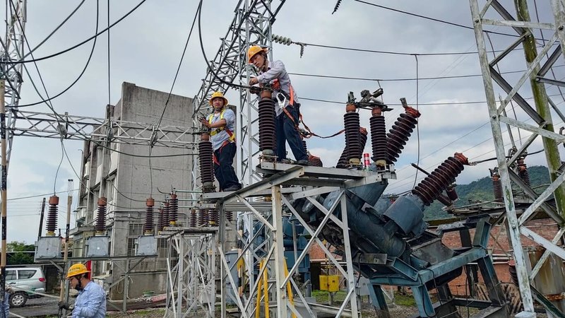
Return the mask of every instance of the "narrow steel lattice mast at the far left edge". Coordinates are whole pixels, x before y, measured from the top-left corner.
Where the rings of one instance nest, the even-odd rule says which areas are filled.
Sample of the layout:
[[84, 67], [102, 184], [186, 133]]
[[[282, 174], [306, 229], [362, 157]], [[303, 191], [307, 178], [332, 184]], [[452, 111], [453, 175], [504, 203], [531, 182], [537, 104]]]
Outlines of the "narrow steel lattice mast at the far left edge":
[[[8, 110], [8, 119], [6, 120], [6, 128], [13, 129], [16, 124], [15, 112], [17, 111], [20, 102], [20, 92], [23, 83], [23, 64], [9, 64], [9, 62], [20, 61], [24, 58], [24, 33], [25, 22], [27, 19], [27, 1], [26, 0], [13, 0], [16, 11], [12, 11], [10, 7], [11, 19], [6, 29], [6, 41], [2, 41], [0, 48], [0, 60], [8, 62], [2, 64], [2, 74], [6, 79], [6, 90], [4, 91], [4, 102], [6, 110]], [[8, 130], [8, 145], [6, 149], [6, 161], [10, 162], [10, 155], [12, 152], [13, 133]], [[9, 165], [8, 165], [9, 167]]]

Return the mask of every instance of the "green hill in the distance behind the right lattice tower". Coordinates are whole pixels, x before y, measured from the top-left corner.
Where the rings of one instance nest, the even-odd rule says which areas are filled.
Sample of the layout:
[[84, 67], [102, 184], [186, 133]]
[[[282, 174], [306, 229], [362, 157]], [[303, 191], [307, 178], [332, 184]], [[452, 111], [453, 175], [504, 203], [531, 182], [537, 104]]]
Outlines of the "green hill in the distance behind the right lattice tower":
[[[528, 173], [530, 174], [530, 184], [533, 188], [543, 184], [549, 184], [549, 172], [547, 171], [547, 167], [541, 165], [528, 167]], [[456, 192], [459, 196], [459, 200], [455, 204], [456, 206], [466, 206], [470, 204], [470, 201], [491, 201], [494, 199], [492, 180], [490, 177], [478, 179], [470, 184], [458, 184]], [[434, 201], [434, 203], [424, 211], [424, 218], [426, 218], [426, 220], [436, 220], [450, 217], [446, 211], [441, 210], [442, 207], [444, 207], [443, 204], [439, 203], [437, 200]]]

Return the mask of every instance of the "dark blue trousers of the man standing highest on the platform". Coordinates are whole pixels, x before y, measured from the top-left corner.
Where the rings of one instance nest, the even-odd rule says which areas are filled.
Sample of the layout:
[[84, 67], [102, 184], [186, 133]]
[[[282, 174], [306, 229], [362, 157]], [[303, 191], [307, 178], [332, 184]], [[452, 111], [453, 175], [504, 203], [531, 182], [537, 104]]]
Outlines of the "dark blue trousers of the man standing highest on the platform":
[[[298, 123], [298, 112], [293, 106], [287, 106], [287, 111]], [[304, 145], [302, 145], [302, 139], [295, 128], [295, 124], [290, 120], [290, 118], [282, 112], [275, 119], [275, 132], [277, 136], [277, 160], [287, 159], [287, 146], [290, 146], [292, 155], [295, 155], [295, 160], [308, 160], [308, 155], [304, 151]]]

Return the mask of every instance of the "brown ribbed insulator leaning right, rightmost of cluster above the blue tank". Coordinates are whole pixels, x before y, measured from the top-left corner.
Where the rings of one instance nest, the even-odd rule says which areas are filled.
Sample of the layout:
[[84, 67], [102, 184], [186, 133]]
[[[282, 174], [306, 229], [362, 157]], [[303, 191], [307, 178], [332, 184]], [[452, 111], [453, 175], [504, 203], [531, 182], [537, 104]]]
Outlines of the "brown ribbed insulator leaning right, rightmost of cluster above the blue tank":
[[420, 112], [412, 107], [405, 107], [405, 113], [400, 114], [392, 128], [386, 134], [386, 150], [388, 153], [388, 163], [396, 162], [396, 158], [402, 152], [408, 137], [418, 124], [417, 118]]

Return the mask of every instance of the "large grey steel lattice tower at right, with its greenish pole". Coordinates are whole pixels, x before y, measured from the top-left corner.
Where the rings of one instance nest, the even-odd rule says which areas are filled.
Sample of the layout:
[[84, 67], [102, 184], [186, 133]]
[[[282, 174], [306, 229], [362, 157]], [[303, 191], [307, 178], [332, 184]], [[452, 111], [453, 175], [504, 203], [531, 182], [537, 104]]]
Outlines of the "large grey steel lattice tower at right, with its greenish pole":
[[[553, 131], [553, 123], [549, 105], [554, 108], [554, 111], [559, 114], [561, 120], [565, 120], [561, 112], [557, 110], [554, 102], [547, 96], [545, 91], [545, 84], [565, 86], [562, 81], [549, 79], [546, 73], [551, 69], [552, 65], [559, 59], [565, 57], [565, 1], [564, 0], [551, 0], [552, 17], [554, 20], [545, 21], [540, 23], [530, 22], [528, 5], [525, 0], [516, 0], [516, 16], [521, 18], [518, 20], [512, 16], [511, 11], [505, 8], [497, 0], [486, 1], [486, 4], [481, 8], [478, 0], [470, 0], [470, 7], [472, 13], [472, 20], [475, 28], [475, 37], [477, 40], [477, 49], [479, 52], [480, 65], [482, 69], [484, 90], [487, 95], [487, 105], [489, 108], [489, 118], [494, 137], [494, 144], [496, 149], [496, 158], [498, 162], [499, 172], [502, 182], [502, 192], [504, 194], [504, 204], [506, 206], [506, 222], [509, 229], [509, 237], [511, 240], [511, 247], [513, 248], [514, 259], [516, 261], [516, 271], [518, 274], [518, 285], [522, 297], [524, 312], [520, 317], [535, 317], [533, 300], [537, 300], [546, 307], [548, 312], [552, 312], [556, 317], [562, 317], [557, 307], [552, 306], [552, 303], [545, 298], [542, 293], [537, 292], [533, 288], [533, 279], [540, 271], [542, 265], [548, 259], [550, 254], [555, 254], [561, 259], [565, 259], [565, 249], [557, 245], [565, 232], [564, 218], [564, 186], [565, 174], [562, 171], [561, 159], [557, 151], [557, 145], [565, 141], [565, 136], [556, 134]], [[481, 1], [484, 3], [484, 1]], [[494, 10], [493, 10], [494, 9]], [[485, 13], [492, 13], [496, 11], [499, 20], [484, 18]], [[484, 28], [496, 25], [503, 28], [502, 31], [507, 33], [516, 34], [516, 40], [504, 50], [499, 53], [494, 59], [489, 59], [487, 46], [485, 44]], [[536, 40], [535, 34], [539, 30], [545, 30], [546, 34], [549, 33], [549, 39], [542, 43], [543, 47], [540, 52], [537, 52], [535, 47]], [[561, 45], [559, 45], [561, 42]], [[502, 74], [495, 69], [496, 64], [504, 59], [513, 49], [521, 45], [525, 51], [526, 65], [528, 69], [522, 73], [521, 78], [515, 85], [504, 78]], [[557, 45], [557, 46], [555, 46]], [[546, 57], [547, 54], [547, 57]], [[493, 85], [496, 83], [501, 90], [507, 95], [500, 105], [496, 103], [495, 88]], [[530, 82], [534, 96], [535, 105], [530, 105], [525, 98], [522, 98], [518, 90], [523, 87], [523, 84]], [[504, 112], [506, 106], [513, 101], [521, 107], [525, 114], [528, 114], [530, 122], [519, 121], [506, 117]], [[532, 124], [533, 121], [533, 124]], [[507, 158], [508, 149], [505, 148], [501, 125], [509, 125], [518, 127], [531, 133], [530, 137], [519, 147], [516, 153]], [[536, 194], [528, 184], [525, 184], [521, 178], [513, 170], [516, 165], [516, 160], [523, 155], [530, 144], [535, 141], [537, 136], [541, 136], [545, 148], [547, 165], [552, 179], [552, 184], [542, 194]], [[521, 216], [516, 215], [516, 206], [514, 204], [513, 192], [511, 182], [520, 187], [525, 194], [530, 196], [533, 201]], [[546, 204], [546, 199], [549, 196], [554, 196], [557, 208]], [[532, 228], [527, 228], [525, 223], [533, 218], [538, 209], [542, 209], [547, 216], [555, 220], [559, 225], [557, 235], [553, 240], [547, 240], [539, 233], [535, 232]], [[537, 244], [545, 248], [545, 252], [537, 264], [532, 264], [533, 269], [528, 273], [525, 261], [525, 254], [523, 252], [523, 245], [521, 242], [521, 235], [530, 238]], [[557, 312], [555, 312], [557, 310]], [[518, 317], [518, 316], [516, 316]]]

